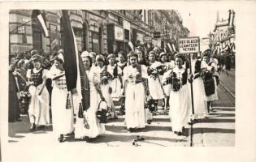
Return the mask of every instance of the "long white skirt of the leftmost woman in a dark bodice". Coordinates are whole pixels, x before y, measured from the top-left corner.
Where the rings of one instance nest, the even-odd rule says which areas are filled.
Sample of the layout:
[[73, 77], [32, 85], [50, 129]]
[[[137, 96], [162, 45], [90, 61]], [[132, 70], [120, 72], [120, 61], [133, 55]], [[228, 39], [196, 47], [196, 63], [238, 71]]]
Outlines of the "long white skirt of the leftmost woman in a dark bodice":
[[30, 86], [28, 91], [31, 94], [29, 101], [28, 115], [31, 123], [40, 126], [48, 126], [50, 124], [50, 95], [46, 87], [43, 88], [41, 96], [37, 93], [40, 91], [41, 85]]

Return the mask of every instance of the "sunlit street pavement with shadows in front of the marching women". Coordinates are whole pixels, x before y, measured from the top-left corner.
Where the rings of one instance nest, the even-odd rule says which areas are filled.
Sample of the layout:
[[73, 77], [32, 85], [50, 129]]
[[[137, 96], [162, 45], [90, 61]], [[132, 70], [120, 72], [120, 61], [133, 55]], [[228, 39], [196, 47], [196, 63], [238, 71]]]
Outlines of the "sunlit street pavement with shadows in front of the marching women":
[[[221, 83], [228, 87], [225, 89], [219, 84], [219, 100], [214, 103], [214, 112], [210, 116], [197, 120], [193, 125], [193, 146], [235, 146], [235, 98], [230, 94], [235, 94], [235, 70], [228, 71], [228, 76], [224, 73], [220, 75]], [[167, 114], [158, 114], [145, 129], [134, 133], [129, 133], [124, 125], [124, 116], [119, 119], [110, 120], [106, 124], [106, 134], [100, 135], [97, 139], [89, 143], [74, 140], [73, 136], [67, 137], [65, 143], [59, 143], [53, 138], [52, 126], [45, 130], [30, 132], [27, 116], [21, 117], [22, 122], [9, 123], [9, 143], [15, 146], [37, 145], [53, 146], [55, 144], [65, 146], [190, 146], [189, 126], [185, 128], [183, 136], [177, 136], [171, 132], [171, 122]], [[132, 142], [137, 139], [137, 135], [144, 138], [137, 143]]]

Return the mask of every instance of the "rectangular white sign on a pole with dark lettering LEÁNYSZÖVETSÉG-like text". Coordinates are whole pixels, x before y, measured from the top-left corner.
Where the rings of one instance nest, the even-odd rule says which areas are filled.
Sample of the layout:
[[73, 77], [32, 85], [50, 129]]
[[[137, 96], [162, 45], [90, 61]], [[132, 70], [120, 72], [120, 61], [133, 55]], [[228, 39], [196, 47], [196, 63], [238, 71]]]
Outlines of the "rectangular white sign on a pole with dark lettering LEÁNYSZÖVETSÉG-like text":
[[180, 38], [178, 40], [178, 45], [179, 45], [180, 53], [199, 53], [200, 51], [199, 36]]

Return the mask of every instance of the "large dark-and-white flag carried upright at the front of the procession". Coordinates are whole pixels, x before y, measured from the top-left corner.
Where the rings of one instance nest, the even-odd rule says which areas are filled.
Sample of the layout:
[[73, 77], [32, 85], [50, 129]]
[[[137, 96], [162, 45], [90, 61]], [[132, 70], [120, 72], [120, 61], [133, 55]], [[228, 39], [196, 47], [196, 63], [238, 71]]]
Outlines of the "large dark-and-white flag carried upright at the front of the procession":
[[[67, 91], [77, 92], [76, 101], [81, 102], [83, 109], [89, 109], [89, 83], [85, 66], [78, 54], [76, 36], [73, 32], [67, 10], [63, 10], [63, 56], [67, 80]], [[78, 107], [79, 103], [74, 107]]]

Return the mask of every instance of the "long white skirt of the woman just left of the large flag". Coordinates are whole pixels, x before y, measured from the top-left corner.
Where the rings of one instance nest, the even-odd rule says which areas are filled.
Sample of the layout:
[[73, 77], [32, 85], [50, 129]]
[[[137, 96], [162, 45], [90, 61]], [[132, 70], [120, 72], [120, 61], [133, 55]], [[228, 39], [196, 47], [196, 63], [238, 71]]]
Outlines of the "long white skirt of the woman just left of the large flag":
[[54, 135], [71, 133], [74, 130], [73, 109], [66, 109], [67, 90], [54, 87], [51, 99]]

